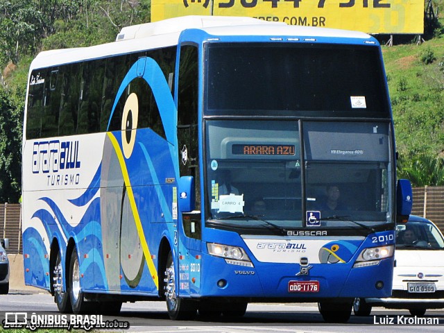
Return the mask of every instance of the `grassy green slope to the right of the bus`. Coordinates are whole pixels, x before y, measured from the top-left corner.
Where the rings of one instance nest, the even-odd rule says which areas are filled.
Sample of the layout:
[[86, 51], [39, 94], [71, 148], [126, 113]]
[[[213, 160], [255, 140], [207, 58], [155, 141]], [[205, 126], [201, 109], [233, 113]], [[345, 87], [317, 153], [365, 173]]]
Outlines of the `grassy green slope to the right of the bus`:
[[[434, 2], [443, 8], [444, 1]], [[391, 96], [398, 176], [414, 186], [444, 185], [444, 19], [433, 22], [430, 39], [383, 46]], [[395, 36], [396, 41], [396, 36]]]

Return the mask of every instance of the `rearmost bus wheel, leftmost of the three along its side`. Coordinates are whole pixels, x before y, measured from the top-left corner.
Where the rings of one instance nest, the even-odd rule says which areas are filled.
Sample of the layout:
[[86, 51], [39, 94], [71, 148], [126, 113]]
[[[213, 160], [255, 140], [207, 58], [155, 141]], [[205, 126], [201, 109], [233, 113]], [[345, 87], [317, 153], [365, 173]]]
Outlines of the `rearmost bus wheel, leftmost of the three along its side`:
[[[71, 302], [69, 301], [69, 288], [65, 286], [65, 272], [63, 271], [62, 255], [57, 249], [56, 262], [51, 265], [51, 282], [53, 282], [54, 302], [57, 304], [58, 311], [62, 314], [72, 312]], [[65, 287], [65, 291], [63, 291]]]

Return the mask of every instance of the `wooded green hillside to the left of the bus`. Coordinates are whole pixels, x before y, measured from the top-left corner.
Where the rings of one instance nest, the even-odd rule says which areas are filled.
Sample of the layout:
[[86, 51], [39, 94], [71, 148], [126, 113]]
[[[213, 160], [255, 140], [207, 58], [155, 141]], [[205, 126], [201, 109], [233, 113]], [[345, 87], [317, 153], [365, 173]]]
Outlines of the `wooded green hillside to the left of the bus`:
[[0, 203], [20, 198], [22, 121], [34, 56], [49, 49], [113, 42], [123, 26], [150, 17], [149, 0], [0, 1]]

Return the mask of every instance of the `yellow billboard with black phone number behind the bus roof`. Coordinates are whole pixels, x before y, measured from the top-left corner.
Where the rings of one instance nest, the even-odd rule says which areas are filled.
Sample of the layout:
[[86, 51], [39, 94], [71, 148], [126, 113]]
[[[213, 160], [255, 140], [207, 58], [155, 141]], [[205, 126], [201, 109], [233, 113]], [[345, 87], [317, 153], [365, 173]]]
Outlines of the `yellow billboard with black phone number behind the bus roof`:
[[151, 0], [151, 22], [185, 15], [247, 16], [365, 33], [424, 32], [424, 0]]

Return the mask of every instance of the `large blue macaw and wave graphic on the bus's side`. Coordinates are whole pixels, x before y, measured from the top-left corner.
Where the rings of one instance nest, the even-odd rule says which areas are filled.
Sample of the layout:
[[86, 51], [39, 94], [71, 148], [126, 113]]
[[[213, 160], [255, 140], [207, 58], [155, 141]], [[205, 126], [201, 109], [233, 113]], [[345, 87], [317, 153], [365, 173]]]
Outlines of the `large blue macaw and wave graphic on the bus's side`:
[[[134, 146], [128, 153], [125, 151], [128, 142], [122, 142], [122, 132], [108, 132], [102, 162], [89, 185], [80, 196], [66, 201], [68, 205], [82, 210], [85, 208], [81, 207], [88, 205], [80, 221], [72, 220], [72, 213], [66, 211], [65, 205], [59, 207], [52, 198], [44, 196], [38, 200], [42, 200], [49, 208], [37, 210], [32, 218], [42, 222], [46, 234], [39, 236], [34, 228], [24, 232], [27, 246], [35, 248], [37, 253], [49, 252], [43, 239], [46, 239], [46, 244], [48, 241], [51, 244], [56, 238], [60, 246], [65, 248], [67, 240], [74, 238], [80, 271], [85, 277], [82, 285], [86, 289], [143, 289], [156, 292], [157, 259], [152, 258], [149, 248], [157, 248], [158, 244], [151, 244], [153, 237], [148, 225], [150, 221], [165, 223], [177, 219], [177, 216], [173, 216], [171, 205], [175, 202], [173, 195], [176, 187], [171, 182], [166, 183], [167, 179], [174, 183], [178, 179], [176, 105], [167, 80], [155, 60], [140, 58], [133, 64], [115, 96], [109, 121], [116, 112], [121, 96], [135, 78], [143, 78], [151, 87], [166, 139], [151, 128], [135, 128]], [[116, 162], [120, 165], [120, 171], [115, 169]], [[75, 210], [75, 207], [70, 209]], [[74, 222], [77, 224], [72, 225]], [[169, 234], [174, 232], [172, 223], [162, 228], [167, 228]], [[33, 245], [28, 241], [31, 239], [28, 234], [31, 233], [37, 239]], [[128, 242], [128, 239], [133, 241]], [[97, 244], [102, 244], [102, 249], [97, 248]], [[116, 244], [119, 244], [118, 248]], [[146, 246], [141, 247], [140, 244]], [[144, 248], [143, 252], [140, 248]], [[70, 254], [62, 255], [65, 257]], [[131, 260], [128, 259], [129, 255]], [[47, 257], [45, 260], [42, 266], [46, 267], [46, 275], [49, 275], [49, 260]], [[144, 273], [147, 270], [149, 273]], [[38, 285], [48, 287], [47, 276], [44, 280], [38, 282]]]

